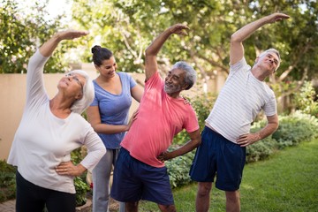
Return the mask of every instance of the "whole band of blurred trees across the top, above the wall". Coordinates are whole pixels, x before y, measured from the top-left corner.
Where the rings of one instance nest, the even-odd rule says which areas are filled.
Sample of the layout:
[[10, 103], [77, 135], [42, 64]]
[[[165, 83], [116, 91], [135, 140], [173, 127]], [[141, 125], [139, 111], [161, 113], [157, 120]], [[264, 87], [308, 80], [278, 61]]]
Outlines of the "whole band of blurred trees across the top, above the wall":
[[[90, 31], [90, 36], [73, 45], [83, 51], [79, 55], [82, 62], [91, 62], [90, 48], [100, 44], [115, 52], [120, 70], [143, 72], [143, 52], [149, 43], [164, 28], [180, 22], [191, 30], [188, 36], [174, 36], [163, 46], [163, 72], [170, 64], [186, 60], [195, 65], [204, 80], [213, 77], [215, 71], [228, 72], [232, 33], [248, 22], [283, 11], [291, 19], [264, 26], [246, 40], [248, 63], [254, 64], [262, 50], [273, 47], [281, 51], [284, 60], [271, 83], [301, 80], [304, 76], [312, 79], [317, 74], [318, 3], [314, 0], [73, 0], [72, 21], [68, 23], [61, 23], [63, 15], [45, 19], [48, 1], [29, 1], [27, 13], [19, 10], [17, 0], [1, 1], [0, 59], [2, 65], [10, 64], [2, 72], [26, 72], [23, 64], [34, 49], [65, 27]], [[60, 49], [56, 57], [63, 60], [66, 48], [70, 46]], [[53, 64], [48, 72], [64, 72], [62, 66]]]

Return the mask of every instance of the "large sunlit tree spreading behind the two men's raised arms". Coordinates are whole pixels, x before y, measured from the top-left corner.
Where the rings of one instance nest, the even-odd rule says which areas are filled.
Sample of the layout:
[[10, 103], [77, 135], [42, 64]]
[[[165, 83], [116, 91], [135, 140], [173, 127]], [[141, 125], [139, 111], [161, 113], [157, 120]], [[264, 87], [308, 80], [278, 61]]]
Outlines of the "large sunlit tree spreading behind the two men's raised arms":
[[[170, 67], [177, 60], [195, 64], [201, 79], [216, 72], [229, 71], [231, 34], [246, 23], [284, 11], [291, 19], [262, 27], [245, 42], [246, 59], [254, 59], [262, 50], [276, 48], [284, 58], [281, 68], [269, 79], [277, 84], [279, 95], [290, 95], [299, 86], [279, 84], [287, 79], [314, 77], [317, 67], [318, 5], [316, 1], [234, 1], [234, 0], [156, 0], [133, 1], [74, 0], [74, 19], [82, 27], [100, 35], [100, 44], [113, 49], [124, 71], [142, 70], [142, 52], [155, 35], [177, 22], [186, 23], [189, 36], [170, 39], [159, 56], [160, 64]], [[90, 61], [87, 54], [87, 61]], [[291, 88], [294, 88], [293, 90]]]

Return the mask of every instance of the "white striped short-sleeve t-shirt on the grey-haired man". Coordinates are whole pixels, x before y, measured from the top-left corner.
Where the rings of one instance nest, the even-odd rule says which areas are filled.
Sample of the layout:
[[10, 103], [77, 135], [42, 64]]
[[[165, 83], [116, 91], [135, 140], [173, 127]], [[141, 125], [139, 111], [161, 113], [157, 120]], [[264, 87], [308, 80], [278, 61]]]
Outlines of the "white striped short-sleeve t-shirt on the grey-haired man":
[[227, 140], [236, 143], [239, 135], [250, 132], [256, 115], [276, 114], [276, 98], [269, 86], [256, 79], [243, 57], [231, 65], [230, 74], [206, 122]]

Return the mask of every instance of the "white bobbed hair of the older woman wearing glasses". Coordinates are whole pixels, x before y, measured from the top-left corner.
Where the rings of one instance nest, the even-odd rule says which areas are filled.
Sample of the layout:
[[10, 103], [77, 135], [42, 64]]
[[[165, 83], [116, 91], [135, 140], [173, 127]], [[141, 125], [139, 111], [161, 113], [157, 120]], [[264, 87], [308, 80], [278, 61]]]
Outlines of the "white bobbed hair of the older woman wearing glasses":
[[72, 112], [81, 114], [84, 112], [88, 106], [93, 102], [95, 97], [95, 89], [92, 79], [89, 78], [87, 72], [83, 70], [73, 70], [70, 73], [77, 73], [86, 79], [86, 83], [83, 87], [83, 94], [81, 99], [75, 101], [72, 104]]

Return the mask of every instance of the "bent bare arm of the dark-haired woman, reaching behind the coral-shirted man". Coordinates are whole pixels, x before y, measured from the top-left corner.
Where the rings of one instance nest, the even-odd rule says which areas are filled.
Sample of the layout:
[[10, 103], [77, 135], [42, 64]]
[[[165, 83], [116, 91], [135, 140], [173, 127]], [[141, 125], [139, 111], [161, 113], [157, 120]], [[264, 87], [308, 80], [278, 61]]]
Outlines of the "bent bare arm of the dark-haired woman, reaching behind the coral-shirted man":
[[102, 124], [101, 115], [98, 106], [87, 108], [87, 119], [96, 133], [114, 134], [123, 133], [129, 130], [131, 122], [128, 125], [107, 125]]

